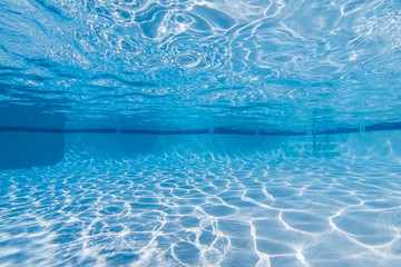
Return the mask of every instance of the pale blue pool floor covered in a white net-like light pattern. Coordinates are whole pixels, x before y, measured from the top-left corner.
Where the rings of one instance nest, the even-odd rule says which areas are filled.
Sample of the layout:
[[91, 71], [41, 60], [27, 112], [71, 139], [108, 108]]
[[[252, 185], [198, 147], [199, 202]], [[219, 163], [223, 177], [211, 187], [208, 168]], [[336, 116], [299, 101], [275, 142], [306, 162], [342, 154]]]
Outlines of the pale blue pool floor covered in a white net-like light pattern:
[[4, 266], [401, 266], [401, 166], [76, 160], [0, 172]]

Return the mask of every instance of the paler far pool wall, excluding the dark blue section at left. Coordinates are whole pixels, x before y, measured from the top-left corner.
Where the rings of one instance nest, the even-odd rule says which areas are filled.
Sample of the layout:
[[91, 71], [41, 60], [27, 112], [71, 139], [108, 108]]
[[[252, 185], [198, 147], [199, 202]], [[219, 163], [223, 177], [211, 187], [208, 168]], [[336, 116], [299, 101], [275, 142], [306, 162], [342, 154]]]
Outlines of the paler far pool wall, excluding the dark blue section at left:
[[401, 132], [355, 132], [312, 136], [244, 135], [116, 135], [67, 134], [66, 151], [91, 158], [137, 156], [182, 157], [373, 157], [392, 159], [401, 155]]

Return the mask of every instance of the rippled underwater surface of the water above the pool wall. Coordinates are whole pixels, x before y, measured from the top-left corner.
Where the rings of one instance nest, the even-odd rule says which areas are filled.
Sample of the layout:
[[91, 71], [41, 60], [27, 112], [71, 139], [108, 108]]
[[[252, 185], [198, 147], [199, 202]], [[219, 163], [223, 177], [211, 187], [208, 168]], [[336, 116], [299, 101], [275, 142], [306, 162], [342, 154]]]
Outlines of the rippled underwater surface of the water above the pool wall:
[[401, 2], [0, 0], [10, 127], [397, 121]]

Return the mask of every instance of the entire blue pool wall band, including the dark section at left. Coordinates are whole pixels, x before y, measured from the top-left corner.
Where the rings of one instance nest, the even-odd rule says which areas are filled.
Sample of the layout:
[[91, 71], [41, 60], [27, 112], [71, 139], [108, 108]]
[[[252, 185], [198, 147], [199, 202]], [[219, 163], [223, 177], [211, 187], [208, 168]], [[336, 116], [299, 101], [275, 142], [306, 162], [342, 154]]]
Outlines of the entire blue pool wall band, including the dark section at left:
[[[74, 158], [369, 157], [399, 160], [401, 131], [316, 136], [125, 135], [0, 131], [0, 170], [56, 165]], [[315, 147], [315, 149], [314, 149]]]

